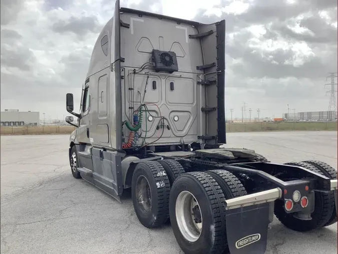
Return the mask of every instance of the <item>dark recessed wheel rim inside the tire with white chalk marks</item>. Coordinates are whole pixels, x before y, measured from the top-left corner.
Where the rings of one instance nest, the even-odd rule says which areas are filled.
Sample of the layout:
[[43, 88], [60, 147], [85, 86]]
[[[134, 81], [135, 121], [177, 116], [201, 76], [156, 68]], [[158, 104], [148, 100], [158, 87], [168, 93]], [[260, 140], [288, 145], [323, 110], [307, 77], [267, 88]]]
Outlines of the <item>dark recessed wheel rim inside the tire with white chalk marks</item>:
[[138, 207], [143, 213], [148, 213], [151, 210], [151, 192], [147, 178], [144, 176], [137, 178], [135, 192]]

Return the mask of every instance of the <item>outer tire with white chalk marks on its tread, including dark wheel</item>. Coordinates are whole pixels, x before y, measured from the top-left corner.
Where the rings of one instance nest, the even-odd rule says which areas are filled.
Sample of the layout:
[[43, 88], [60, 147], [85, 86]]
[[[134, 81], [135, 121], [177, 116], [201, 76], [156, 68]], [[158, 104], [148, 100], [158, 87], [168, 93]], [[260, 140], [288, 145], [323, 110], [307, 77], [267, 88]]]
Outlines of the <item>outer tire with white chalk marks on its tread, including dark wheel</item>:
[[169, 218], [170, 183], [161, 164], [156, 161], [137, 164], [131, 189], [134, 210], [141, 224], [147, 228], [163, 225]]

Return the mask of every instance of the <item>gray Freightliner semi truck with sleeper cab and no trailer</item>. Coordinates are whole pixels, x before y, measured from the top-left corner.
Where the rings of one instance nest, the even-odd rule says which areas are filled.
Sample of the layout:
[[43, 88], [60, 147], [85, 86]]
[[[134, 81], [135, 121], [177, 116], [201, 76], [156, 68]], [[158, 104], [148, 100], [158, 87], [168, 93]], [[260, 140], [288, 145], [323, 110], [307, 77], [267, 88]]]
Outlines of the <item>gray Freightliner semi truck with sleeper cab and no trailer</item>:
[[[222, 148], [225, 21], [120, 8], [96, 41], [80, 112], [67, 94], [72, 174], [120, 201], [131, 188], [145, 227], [170, 220], [184, 253], [264, 253], [274, 214], [297, 231], [337, 221], [336, 171]], [[75, 121], [76, 122], [76, 121]], [[112, 221], [111, 223], [114, 223]]]

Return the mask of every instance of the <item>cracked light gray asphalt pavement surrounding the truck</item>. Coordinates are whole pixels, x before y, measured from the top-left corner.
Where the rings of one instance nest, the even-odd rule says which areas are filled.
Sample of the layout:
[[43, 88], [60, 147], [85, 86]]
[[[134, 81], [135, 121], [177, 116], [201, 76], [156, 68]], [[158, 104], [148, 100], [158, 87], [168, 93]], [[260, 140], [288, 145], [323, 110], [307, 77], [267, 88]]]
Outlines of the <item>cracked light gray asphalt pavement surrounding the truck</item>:
[[[130, 192], [122, 204], [82, 179], [68, 162], [68, 135], [1, 136], [1, 253], [181, 253], [170, 225], [143, 227]], [[226, 147], [272, 162], [321, 160], [337, 169], [336, 132], [229, 133]], [[295, 232], [276, 218], [266, 253], [333, 254], [337, 223]]]

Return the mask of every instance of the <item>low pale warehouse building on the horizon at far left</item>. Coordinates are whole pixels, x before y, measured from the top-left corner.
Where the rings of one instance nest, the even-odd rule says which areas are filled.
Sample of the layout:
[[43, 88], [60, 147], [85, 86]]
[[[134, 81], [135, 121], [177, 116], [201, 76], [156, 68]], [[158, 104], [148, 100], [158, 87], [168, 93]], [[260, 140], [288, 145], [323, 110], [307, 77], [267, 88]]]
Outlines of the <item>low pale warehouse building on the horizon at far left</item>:
[[1, 126], [39, 125], [40, 112], [5, 109], [0, 115]]

